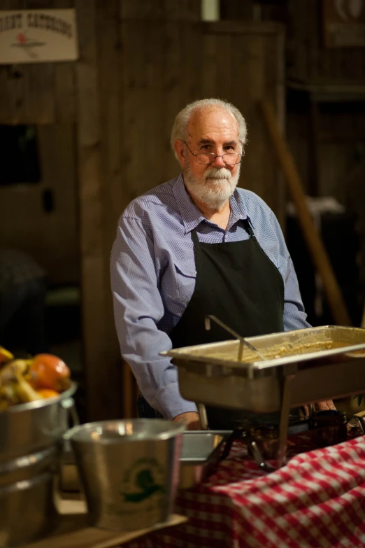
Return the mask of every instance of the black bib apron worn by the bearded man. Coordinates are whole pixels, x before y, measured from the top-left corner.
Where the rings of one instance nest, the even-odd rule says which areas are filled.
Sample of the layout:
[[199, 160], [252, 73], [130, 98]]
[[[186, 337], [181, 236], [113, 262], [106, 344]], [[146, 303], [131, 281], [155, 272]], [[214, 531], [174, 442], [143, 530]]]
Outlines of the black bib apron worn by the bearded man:
[[[234, 338], [213, 322], [207, 331], [204, 318], [208, 314], [243, 337], [284, 330], [282, 276], [262, 250], [249, 221], [240, 223], [250, 236], [248, 240], [201, 244], [196, 230], [192, 231], [196, 283], [183, 316], [170, 333], [173, 348]], [[157, 416], [141, 397], [138, 412], [140, 416]], [[250, 415], [207, 407], [208, 425], [212, 429], [234, 428]]]

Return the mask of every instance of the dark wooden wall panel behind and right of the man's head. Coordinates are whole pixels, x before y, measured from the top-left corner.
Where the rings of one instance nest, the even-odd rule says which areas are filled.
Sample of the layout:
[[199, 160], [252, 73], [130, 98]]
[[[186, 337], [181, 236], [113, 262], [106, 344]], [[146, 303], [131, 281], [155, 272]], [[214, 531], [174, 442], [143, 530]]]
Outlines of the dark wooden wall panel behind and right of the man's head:
[[284, 225], [284, 185], [258, 108], [260, 99], [269, 98], [283, 127], [283, 29], [280, 24], [270, 22], [231, 21], [207, 23], [203, 28], [208, 74], [216, 85], [212, 94], [236, 105], [248, 123], [248, 144], [239, 185], [257, 192]]

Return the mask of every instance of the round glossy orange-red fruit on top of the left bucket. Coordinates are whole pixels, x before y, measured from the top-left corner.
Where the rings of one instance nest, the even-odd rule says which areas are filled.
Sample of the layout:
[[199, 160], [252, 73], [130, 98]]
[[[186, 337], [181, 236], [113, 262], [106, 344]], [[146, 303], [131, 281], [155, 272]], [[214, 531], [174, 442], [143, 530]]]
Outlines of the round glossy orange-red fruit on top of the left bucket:
[[70, 386], [70, 370], [61, 358], [52, 354], [37, 354], [30, 360], [29, 383], [36, 391], [47, 388], [63, 392]]

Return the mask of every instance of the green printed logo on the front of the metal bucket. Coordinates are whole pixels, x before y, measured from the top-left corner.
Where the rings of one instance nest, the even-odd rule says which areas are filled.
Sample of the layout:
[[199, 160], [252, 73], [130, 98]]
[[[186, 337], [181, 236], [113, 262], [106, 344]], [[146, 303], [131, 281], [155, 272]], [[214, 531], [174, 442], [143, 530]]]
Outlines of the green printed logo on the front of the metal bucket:
[[155, 493], [165, 493], [164, 469], [155, 458], [140, 458], [125, 472], [120, 494], [126, 503], [141, 503]]

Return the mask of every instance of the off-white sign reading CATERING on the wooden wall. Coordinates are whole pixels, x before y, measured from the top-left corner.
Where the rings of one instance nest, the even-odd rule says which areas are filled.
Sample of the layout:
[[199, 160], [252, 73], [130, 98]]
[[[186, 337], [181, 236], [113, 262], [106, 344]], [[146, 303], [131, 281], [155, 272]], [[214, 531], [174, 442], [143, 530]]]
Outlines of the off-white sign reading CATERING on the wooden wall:
[[0, 64], [76, 59], [75, 10], [0, 10]]

